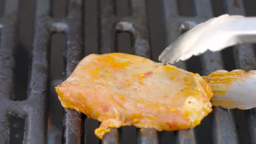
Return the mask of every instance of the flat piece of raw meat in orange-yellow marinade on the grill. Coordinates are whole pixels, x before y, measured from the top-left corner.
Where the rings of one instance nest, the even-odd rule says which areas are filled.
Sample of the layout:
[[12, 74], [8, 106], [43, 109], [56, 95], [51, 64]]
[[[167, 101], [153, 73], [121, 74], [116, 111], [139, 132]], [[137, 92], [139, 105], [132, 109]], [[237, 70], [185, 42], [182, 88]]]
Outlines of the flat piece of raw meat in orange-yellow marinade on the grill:
[[101, 122], [100, 139], [123, 125], [192, 128], [212, 111], [213, 93], [199, 75], [124, 53], [86, 56], [56, 92], [65, 109]]

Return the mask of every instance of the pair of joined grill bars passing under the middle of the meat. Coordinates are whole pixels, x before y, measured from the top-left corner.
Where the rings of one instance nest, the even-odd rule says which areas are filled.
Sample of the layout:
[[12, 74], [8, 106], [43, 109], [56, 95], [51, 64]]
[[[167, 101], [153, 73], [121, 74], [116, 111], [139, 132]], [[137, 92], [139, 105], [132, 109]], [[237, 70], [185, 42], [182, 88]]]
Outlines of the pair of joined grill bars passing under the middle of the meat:
[[[115, 52], [116, 32], [130, 32], [134, 38], [134, 54], [150, 58], [146, 0], [131, 0], [132, 16], [125, 18], [115, 16], [114, 5], [115, 0], [100, 0], [101, 53]], [[102, 143], [118, 143], [118, 135], [120, 133], [114, 130], [104, 136]], [[154, 129], [141, 129], [138, 136], [141, 144], [158, 143], [157, 132]]]

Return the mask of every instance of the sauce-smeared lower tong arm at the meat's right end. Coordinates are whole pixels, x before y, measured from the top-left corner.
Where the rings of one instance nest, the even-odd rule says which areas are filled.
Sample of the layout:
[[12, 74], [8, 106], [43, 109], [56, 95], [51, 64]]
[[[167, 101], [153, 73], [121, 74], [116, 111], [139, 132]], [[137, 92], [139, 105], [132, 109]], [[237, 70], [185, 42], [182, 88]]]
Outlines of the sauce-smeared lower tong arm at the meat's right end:
[[208, 76], [203, 76], [209, 83], [214, 96], [213, 106], [226, 109], [251, 109], [256, 107], [256, 71], [245, 72], [241, 69], [218, 70]]

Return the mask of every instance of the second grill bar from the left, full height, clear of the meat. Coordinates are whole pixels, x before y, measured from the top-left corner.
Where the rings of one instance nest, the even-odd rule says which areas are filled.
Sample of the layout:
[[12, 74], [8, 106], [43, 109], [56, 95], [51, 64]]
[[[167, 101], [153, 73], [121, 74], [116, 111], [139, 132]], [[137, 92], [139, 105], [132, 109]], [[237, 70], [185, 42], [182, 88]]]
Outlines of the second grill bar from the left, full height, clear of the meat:
[[45, 125], [47, 124], [47, 88], [48, 88], [48, 43], [50, 33], [47, 30], [49, 5], [47, 1], [37, 1], [35, 13], [35, 33], [33, 55], [28, 85], [27, 119], [25, 121], [24, 143], [46, 143]]

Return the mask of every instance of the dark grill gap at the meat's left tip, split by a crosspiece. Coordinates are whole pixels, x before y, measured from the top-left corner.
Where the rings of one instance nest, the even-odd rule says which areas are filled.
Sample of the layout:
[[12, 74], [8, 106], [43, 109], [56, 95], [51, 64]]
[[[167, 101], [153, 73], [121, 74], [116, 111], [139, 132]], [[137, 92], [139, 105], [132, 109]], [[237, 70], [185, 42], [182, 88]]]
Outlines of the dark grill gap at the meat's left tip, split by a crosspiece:
[[[51, 15], [53, 19], [63, 19], [67, 16], [67, 0], [53, 0]], [[50, 58], [50, 92], [48, 107], [48, 144], [61, 142], [62, 111], [55, 86], [62, 82], [64, 62], [63, 54], [66, 47], [66, 36], [63, 33], [51, 34], [51, 58]]]

